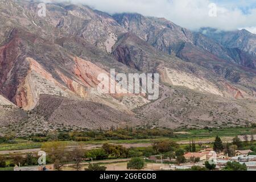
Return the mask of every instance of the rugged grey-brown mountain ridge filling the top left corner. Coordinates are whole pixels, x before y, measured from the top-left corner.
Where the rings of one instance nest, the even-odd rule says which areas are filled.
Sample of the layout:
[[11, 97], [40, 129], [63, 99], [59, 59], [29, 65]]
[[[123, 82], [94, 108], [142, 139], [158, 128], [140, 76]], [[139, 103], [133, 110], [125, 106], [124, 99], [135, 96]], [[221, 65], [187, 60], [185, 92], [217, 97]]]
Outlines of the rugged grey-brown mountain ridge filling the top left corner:
[[[108, 14], [87, 6], [69, 3], [47, 3], [47, 18], [38, 16], [38, 2], [1, 1], [2, 35], [6, 30], [23, 27], [45, 39], [59, 36], [79, 36], [92, 45], [109, 51], [115, 39], [125, 30]], [[42, 29], [44, 31], [42, 31]], [[0, 38], [0, 43], [2, 38]]]

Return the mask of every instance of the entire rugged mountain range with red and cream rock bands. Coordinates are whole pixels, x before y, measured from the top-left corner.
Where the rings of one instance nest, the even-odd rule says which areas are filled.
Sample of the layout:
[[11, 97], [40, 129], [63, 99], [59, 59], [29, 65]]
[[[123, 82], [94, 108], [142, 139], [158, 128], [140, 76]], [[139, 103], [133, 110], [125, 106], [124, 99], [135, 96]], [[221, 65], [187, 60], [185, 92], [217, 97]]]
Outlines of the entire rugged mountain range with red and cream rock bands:
[[[88, 6], [0, 1], [0, 133], [256, 122], [256, 35], [191, 31]], [[97, 92], [100, 73], [159, 73], [160, 96]]]

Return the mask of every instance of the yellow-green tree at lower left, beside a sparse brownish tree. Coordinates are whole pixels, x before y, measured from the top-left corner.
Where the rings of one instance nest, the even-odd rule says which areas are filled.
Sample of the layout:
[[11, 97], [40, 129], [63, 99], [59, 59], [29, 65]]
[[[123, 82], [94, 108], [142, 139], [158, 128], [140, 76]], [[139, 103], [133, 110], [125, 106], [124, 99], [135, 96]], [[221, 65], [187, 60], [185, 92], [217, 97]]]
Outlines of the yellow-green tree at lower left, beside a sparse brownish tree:
[[55, 169], [58, 171], [63, 167], [66, 160], [65, 147], [63, 142], [46, 142], [42, 146], [42, 150], [47, 152], [49, 158], [54, 164]]

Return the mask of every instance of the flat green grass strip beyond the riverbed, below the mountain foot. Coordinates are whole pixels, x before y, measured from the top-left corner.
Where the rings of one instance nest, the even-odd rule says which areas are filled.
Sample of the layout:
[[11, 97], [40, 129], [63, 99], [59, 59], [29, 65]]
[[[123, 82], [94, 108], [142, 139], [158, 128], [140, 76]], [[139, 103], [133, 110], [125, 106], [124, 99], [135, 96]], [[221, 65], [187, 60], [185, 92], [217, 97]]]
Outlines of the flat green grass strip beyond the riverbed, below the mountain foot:
[[[90, 140], [86, 142], [79, 142], [82, 145], [85, 144], [102, 144], [102, 143], [114, 143], [114, 144], [135, 144], [135, 143], [152, 143], [154, 140], [160, 139], [171, 139], [175, 142], [185, 142], [191, 139], [196, 141], [207, 141], [213, 140], [216, 135], [229, 139], [230, 137], [235, 137], [237, 135], [250, 135], [256, 134], [256, 129], [253, 127], [236, 127], [236, 128], [225, 128], [225, 129], [199, 129], [199, 130], [176, 130], [175, 137], [156, 137], [154, 139], [131, 139], [131, 140]], [[65, 144], [72, 146], [74, 142], [63, 141]], [[32, 142], [26, 139], [15, 139], [15, 143], [1, 143], [0, 151], [9, 150], [23, 150], [30, 148], [40, 148], [43, 142]]]

